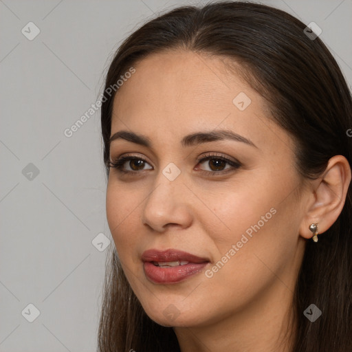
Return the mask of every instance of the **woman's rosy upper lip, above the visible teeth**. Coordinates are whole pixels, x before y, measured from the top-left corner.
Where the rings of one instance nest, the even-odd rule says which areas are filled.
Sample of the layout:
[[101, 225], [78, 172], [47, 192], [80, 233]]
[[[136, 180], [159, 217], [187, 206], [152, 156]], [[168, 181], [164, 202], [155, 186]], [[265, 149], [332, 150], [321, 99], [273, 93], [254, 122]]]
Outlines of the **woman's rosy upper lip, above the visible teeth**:
[[188, 261], [190, 263], [205, 263], [209, 259], [201, 258], [195, 254], [190, 254], [182, 250], [175, 250], [173, 248], [169, 250], [146, 250], [142, 254], [142, 261], [149, 262], [170, 262], [170, 261]]

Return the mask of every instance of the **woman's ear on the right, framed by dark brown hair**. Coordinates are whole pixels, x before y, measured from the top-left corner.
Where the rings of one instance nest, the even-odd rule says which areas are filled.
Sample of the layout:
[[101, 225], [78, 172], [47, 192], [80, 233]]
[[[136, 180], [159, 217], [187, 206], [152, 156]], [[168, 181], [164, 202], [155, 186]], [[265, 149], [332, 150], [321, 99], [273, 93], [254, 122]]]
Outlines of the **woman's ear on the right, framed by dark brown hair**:
[[344, 207], [350, 182], [351, 167], [346, 157], [331, 157], [324, 173], [311, 182], [306, 214], [300, 224], [301, 236], [313, 237], [309, 230], [311, 223], [318, 223], [318, 237], [333, 225]]

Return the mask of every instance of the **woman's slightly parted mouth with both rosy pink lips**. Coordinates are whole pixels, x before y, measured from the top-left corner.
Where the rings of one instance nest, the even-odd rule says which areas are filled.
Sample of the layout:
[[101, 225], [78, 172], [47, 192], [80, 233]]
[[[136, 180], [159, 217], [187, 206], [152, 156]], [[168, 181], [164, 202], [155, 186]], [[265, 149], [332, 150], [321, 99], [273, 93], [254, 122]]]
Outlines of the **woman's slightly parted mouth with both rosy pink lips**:
[[153, 283], [179, 283], [201, 272], [209, 259], [180, 250], [147, 250], [142, 254], [144, 274]]

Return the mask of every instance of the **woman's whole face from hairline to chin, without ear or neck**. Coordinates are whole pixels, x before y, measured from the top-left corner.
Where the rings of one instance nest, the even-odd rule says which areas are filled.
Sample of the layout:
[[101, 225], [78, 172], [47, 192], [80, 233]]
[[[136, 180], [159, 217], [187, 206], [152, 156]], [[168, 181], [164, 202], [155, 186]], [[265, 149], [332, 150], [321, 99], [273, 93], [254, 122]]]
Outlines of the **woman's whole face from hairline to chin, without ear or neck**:
[[208, 325], [293, 289], [301, 179], [291, 137], [268, 117], [220, 58], [192, 52], [144, 58], [118, 90], [107, 220], [160, 325]]

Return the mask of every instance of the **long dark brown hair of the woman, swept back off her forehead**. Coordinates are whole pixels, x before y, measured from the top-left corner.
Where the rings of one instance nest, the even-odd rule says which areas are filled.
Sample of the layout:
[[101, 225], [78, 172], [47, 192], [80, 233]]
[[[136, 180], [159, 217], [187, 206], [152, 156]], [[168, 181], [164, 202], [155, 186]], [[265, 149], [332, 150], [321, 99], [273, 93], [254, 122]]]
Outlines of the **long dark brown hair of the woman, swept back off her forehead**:
[[[296, 170], [304, 179], [322, 175], [334, 155], [343, 155], [351, 166], [351, 92], [325, 44], [319, 37], [309, 38], [305, 28], [295, 17], [267, 5], [221, 1], [175, 8], [135, 30], [115, 53], [105, 82], [101, 127], [107, 175], [115, 96], [107, 95], [107, 89], [146, 56], [170, 50], [239, 65], [241, 76], [266, 100], [270, 118], [293, 137]], [[350, 185], [335, 223], [318, 243], [307, 241], [294, 289], [297, 327], [292, 351], [352, 351], [351, 219]], [[180, 351], [173, 328], [146, 315], [115, 248], [107, 265], [98, 350]], [[322, 311], [314, 323], [303, 315], [311, 303]]]

